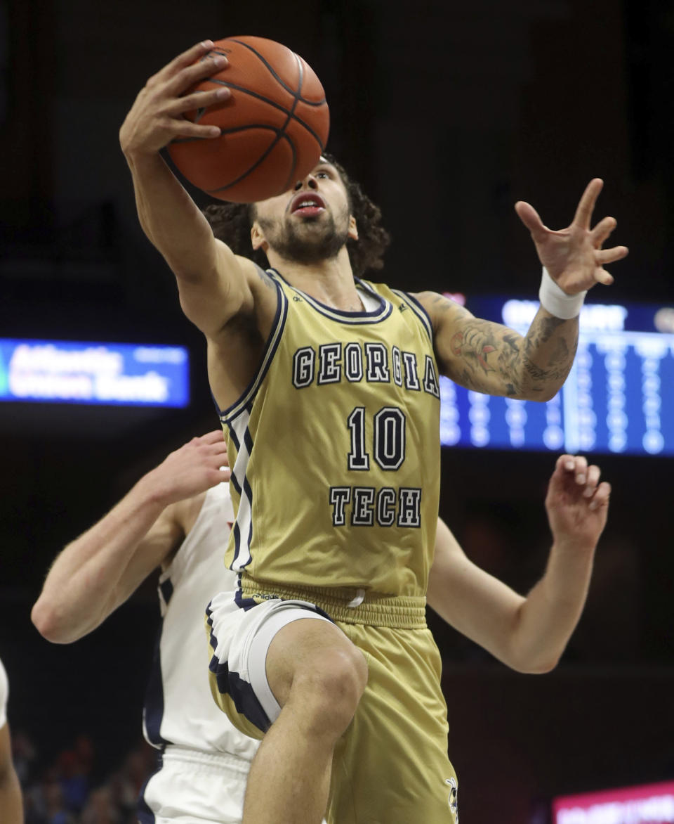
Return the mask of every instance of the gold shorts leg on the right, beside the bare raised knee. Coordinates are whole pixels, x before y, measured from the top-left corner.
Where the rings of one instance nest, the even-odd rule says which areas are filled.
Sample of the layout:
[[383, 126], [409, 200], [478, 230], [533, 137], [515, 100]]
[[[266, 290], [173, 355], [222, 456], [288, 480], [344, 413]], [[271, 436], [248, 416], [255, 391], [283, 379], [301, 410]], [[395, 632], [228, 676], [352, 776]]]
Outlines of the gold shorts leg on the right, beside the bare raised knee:
[[365, 654], [368, 682], [335, 750], [328, 824], [457, 824], [447, 705], [430, 630], [337, 626]]

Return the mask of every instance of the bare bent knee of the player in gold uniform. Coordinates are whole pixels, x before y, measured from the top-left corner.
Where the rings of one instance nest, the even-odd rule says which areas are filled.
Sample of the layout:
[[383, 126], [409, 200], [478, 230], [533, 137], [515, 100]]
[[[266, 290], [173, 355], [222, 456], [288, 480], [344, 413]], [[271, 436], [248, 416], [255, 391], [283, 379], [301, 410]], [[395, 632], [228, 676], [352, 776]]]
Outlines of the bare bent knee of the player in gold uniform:
[[327, 650], [312, 672], [293, 684], [309, 725], [328, 735], [341, 735], [353, 718], [367, 684], [367, 663], [360, 649]]

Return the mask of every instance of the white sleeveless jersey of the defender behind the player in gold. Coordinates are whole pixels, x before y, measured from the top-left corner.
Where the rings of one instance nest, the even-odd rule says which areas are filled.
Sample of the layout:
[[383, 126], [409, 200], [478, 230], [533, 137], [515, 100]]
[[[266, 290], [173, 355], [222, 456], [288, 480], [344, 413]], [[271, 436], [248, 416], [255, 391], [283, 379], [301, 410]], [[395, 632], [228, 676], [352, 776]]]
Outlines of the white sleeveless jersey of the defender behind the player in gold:
[[234, 511], [229, 485], [209, 489], [194, 526], [159, 580], [162, 622], [143, 709], [153, 747], [229, 753], [251, 761], [259, 742], [235, 729], [208, 684], [204, 615], [211, 598], [236, 588], [225, 568]]

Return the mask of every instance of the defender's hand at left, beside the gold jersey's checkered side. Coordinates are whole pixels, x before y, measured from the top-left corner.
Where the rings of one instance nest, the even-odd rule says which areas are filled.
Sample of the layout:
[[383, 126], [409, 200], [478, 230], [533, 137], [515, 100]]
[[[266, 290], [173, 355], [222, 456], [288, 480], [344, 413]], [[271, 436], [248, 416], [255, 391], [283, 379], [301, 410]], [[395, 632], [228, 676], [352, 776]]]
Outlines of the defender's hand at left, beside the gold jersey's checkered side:
[[151, 489], [165, 506], [191, 498], [230, 480], [227, 446], [222, 430], [192, 438], [146, 475]]

